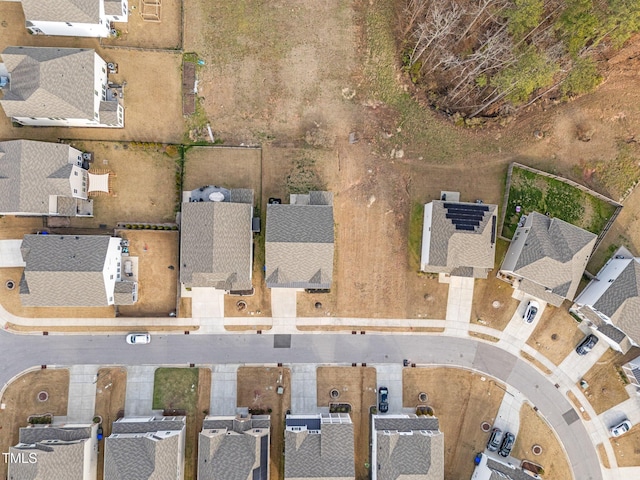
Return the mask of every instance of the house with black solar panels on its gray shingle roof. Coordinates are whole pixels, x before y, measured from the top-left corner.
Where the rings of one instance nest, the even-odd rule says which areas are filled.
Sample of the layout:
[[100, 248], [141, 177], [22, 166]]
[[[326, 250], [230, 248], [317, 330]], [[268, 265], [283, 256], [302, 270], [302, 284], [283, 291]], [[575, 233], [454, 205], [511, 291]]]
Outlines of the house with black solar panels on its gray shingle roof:
[[496, 253], [497, 205], [434, 200], [424, 206], [420, 270], [487, 278]]

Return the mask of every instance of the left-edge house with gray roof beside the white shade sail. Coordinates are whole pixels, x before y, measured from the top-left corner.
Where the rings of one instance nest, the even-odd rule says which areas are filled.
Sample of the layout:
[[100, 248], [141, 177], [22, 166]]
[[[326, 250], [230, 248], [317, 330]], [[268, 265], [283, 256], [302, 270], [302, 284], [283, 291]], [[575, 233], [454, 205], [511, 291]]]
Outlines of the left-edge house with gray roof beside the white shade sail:
[[82, 165], [82, 152], [63, 143], [0, 142], [0, 215], [93, 216]]

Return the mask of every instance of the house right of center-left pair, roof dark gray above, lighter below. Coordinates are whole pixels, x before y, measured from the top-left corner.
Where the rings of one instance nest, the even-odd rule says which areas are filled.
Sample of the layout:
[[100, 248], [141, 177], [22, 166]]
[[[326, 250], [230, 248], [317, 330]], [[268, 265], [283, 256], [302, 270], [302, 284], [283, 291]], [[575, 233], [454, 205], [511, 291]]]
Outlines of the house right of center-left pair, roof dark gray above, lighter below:
[[290, 196], [267, 205], [265, 240], [269, 288], [329, 290], [333, 280], [333, 194]]

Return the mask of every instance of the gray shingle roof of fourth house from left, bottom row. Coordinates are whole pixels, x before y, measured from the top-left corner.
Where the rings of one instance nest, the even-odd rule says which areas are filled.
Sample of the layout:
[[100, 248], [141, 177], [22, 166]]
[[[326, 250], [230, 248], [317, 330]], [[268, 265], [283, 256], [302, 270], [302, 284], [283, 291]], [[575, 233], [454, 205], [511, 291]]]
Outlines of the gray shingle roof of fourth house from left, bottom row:
[[353, 424], [323, 423], [320, 432], [285, 430], [285, 479], [355, 479]]

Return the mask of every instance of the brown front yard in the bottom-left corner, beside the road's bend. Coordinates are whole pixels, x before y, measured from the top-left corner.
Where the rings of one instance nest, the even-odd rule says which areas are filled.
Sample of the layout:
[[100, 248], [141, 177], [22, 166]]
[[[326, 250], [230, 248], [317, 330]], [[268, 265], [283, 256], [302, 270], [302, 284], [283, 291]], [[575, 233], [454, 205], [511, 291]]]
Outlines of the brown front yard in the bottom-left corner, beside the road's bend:
[[[49, 399], [40, 402], [37, 395], [45, 391]], [[2, 396], [6, 405], [0, 410], [0, 451], [18, 443], [20, 427], [27, 426], [29, 415], [51, 413], [55, 416], [67, 414], [69, 395], [69, 370], [36, 370], [25, 373], [11, 382]], [[7, 463], [0, 462], [0, 478], [6, 478]]]

